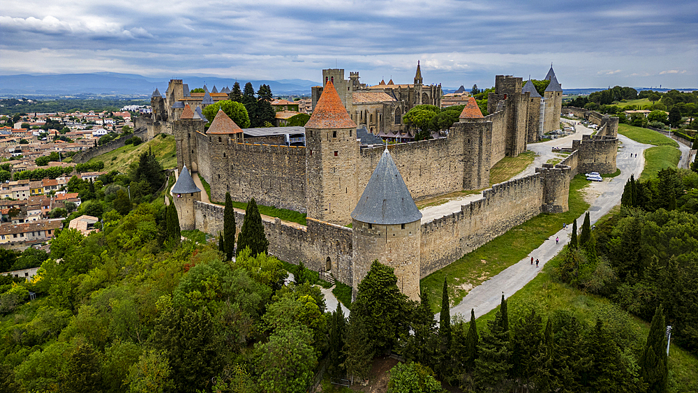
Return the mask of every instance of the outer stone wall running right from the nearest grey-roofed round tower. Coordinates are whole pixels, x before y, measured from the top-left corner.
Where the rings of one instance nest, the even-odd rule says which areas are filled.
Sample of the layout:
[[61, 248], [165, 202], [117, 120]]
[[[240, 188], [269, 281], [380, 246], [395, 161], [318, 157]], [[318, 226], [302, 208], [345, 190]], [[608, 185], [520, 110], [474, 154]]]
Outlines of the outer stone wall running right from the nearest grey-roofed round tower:
[[425, 276], [542, 212], [544, 176], [496, 184], [461, 211], [422, 224], [421, 272]]

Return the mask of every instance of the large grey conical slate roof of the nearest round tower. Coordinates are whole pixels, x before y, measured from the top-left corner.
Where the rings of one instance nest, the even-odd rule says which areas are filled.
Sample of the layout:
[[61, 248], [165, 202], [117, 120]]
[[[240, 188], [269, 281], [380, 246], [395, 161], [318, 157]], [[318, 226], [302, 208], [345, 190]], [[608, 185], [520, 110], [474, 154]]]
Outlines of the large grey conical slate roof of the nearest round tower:
[[411, 223], [422, 218], [387, 149], [351, 216], [362, 223], [384, 225]]

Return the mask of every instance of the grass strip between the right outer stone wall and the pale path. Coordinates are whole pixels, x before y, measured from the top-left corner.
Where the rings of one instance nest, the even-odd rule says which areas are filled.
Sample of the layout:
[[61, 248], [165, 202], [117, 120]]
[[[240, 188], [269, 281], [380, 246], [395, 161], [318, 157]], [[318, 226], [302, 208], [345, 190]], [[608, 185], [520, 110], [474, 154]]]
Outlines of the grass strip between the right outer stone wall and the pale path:
[[470, 289], [525, 258], [548, 237], [560, 230], [563, 223], [571, 223], [574, 218], [579, 218], [589, 207], [589, 204], [584, 202], [584, 191], [582, 191], [582, 188], [588, 184], [583, 175], [577, 175], [570, 181], [568, 212], [540, 214], [531, 218], [504, 235], [463, 255], [451, 265], [424, 277], [420, 281], [420, 286], [422, 290], [429, 292], [431, 308], [436, 312], [440, 311], [445, 276], [449, 280], [448, 291], [451, 304], [459, 304], [463, 297], [468, 295]]

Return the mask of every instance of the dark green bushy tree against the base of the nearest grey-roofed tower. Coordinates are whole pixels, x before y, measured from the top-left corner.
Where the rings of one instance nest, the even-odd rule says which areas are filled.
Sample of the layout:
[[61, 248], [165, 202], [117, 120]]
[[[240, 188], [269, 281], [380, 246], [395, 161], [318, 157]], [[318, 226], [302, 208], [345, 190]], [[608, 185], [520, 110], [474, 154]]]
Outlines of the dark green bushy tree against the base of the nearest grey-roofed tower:
[[407, 334], [409, 323], [407, 297], [397, 288], [392, 267], [373, 261], [371, 269], [359, 283], [352, 316], [364, 320], [371, 332], [371, 346], [378, 354], [389, 353], [400, 336]]

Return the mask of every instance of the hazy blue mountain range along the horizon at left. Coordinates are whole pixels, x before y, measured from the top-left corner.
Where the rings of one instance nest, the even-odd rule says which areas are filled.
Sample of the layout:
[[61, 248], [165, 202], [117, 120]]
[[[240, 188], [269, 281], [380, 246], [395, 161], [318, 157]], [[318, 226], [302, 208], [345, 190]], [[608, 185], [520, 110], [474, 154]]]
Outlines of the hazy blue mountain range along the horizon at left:
[[[210, 89], [214, 86], [218, 90], [235, 84], [235, 79], [223, 77], [181, 77], [189, 89], [203, 87]], [[52, 95], [66, 96], [77, 94], [101, 94], [101, 95], [150, 95], [159, 89], [165, 93], [170, 79], [144, 77], [142, 75], [121, 73], [86, 73], [86, 74], [40, 74], [40, 75], [0, 75], [0, 94], [8, 95]], [[283, 80], [237, 80], [241, 89], [247, 82], [251, 82], [255, 91], [260, 84], [268, 84], [274, 94], [310, 95], [311, 87], [318, 82], [302, 79]]]

